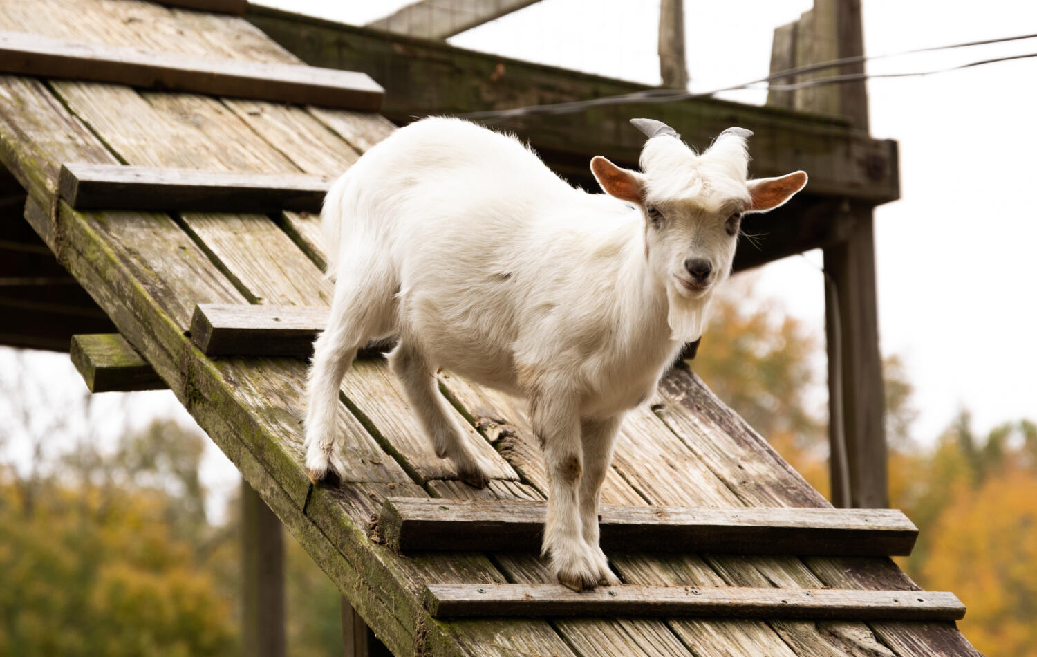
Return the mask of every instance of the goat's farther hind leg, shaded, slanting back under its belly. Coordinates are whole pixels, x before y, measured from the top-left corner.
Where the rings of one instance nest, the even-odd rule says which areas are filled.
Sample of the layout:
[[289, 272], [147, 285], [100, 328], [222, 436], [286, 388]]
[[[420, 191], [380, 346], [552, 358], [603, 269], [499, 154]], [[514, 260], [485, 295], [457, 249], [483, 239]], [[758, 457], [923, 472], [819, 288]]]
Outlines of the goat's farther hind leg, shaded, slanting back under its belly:
[[457, 468], [460, 481], [476, 488], [485, 488], [489, 476], [465, 444], [464, 434], [451, 419], [424, 355], [405, 339], [400, 339], [389, 354], [389, 366], [403, 384], [407, 401], [431, 438], [436, 456], [450, 459]]

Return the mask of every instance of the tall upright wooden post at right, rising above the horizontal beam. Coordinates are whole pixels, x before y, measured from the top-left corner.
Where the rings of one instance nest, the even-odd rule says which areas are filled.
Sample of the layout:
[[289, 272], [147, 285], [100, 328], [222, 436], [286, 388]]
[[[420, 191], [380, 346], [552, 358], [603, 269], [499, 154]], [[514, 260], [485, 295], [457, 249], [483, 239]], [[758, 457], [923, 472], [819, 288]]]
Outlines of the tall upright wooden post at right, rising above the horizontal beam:
[[[815, 0], [795, 24], [775, 32], [772, 73], [864, 54], [860, 0]], [[794, 53], [794, 54], [790, 54]], [[864, 63], [804, 76], [863, 73]], [[792, 82], [791, 80], [783, 82]], [[768, 94], [773, 104], [838, 113], [868, 130], [864, 81]], [[829, 352], [829, 461], [837, 507], [889, 505], [882, 361], [878, 352], [875, 244], [870, 206], [844, 203], [845, 239], [824, 248], [825, 335]]]

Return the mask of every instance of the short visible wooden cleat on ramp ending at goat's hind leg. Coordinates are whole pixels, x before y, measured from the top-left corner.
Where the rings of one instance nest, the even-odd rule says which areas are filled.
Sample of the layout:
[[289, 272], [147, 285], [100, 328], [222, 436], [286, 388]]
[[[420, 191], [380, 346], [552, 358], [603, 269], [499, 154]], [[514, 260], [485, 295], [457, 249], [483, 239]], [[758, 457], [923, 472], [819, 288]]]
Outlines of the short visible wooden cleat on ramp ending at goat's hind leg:
[[328, 311], [327, 306], [203, 304], [191, 320], [191, 339], [206, 356], [306, 358]]

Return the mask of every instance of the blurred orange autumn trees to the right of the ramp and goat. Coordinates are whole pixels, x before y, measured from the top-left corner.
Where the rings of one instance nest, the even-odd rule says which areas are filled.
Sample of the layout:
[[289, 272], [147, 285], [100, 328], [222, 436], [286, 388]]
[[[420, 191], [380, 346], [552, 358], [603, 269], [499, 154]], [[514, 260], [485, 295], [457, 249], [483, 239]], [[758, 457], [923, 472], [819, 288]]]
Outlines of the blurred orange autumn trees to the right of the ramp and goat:
[[[717, 305], [693, 369], [829, 496], [826, 396], [816, 394], [823, 327], [808, 330], [759, 300], [732, 301], [747, 290], [729, 289]], [[923, 588], [961, 599], [958, 627], [978, 650], [1037, 656], [1037, 425], [1014, 419], [980, 435], [962, 410], [940, 436], [916, 436], [897, 356], [885, 360], [884, 378], [891, 505], [920, 531], [897, 563]]]

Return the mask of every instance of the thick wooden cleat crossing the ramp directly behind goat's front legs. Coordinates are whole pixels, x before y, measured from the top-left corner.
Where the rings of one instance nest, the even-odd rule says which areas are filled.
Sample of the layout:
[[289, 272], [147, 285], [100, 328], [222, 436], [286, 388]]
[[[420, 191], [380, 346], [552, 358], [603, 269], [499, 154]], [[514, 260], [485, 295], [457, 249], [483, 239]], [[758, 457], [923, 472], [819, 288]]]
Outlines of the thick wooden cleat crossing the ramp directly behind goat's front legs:
[[[380, 529], [388, 545], [416, 550], [540, 548], [546, 504], [527, 500], [390, 498]], [[601, 547], [623, 553], [909, 554], [918, 528], [890, 509], [600, 510]]]

